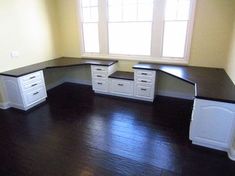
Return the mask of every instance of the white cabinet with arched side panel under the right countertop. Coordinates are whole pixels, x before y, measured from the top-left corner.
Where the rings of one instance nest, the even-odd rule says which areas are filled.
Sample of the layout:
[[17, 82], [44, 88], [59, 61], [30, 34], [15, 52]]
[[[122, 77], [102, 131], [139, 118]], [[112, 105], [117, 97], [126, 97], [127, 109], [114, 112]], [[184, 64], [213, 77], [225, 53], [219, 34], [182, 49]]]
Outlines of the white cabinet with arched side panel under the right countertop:
[[194, 144], [228, 151], [235, 126], [235, 104], [194, 100], [190, 139]]

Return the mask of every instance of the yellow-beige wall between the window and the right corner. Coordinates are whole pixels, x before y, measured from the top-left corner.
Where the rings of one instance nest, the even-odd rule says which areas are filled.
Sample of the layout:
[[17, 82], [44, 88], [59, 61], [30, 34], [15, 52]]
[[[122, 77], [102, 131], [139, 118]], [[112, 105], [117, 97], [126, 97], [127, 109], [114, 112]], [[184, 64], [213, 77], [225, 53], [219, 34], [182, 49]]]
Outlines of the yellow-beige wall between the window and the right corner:
[[197, 0], [190, 65], [224, 67], [234, 4], [234, 0]]

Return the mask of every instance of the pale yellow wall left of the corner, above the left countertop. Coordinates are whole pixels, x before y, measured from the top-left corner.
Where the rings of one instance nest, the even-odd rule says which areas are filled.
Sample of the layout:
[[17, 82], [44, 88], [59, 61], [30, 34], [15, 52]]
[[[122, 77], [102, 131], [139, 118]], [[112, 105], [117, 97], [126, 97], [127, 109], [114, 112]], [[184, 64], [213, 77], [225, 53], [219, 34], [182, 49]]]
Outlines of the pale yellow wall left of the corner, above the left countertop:
[[[0, 1], [0, 72], [61, 56], [56, 3]], [[19, 57], [12, 59], [11, 51], [18, 51]], [[1, 97], [0, 92], [0, 102]]]

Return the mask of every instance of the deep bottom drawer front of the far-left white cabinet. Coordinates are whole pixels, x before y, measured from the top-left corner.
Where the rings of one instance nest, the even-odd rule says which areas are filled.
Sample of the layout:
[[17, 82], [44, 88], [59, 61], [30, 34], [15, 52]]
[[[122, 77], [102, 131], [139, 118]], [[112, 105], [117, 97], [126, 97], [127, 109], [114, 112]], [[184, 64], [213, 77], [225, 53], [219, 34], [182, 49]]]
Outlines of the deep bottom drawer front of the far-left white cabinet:
[[24, 97], [26, 106], [29, 106], [43, 98], [46, 98], [46, 90], [43, 86], [41, 86], [33, 91], [25, 92]]

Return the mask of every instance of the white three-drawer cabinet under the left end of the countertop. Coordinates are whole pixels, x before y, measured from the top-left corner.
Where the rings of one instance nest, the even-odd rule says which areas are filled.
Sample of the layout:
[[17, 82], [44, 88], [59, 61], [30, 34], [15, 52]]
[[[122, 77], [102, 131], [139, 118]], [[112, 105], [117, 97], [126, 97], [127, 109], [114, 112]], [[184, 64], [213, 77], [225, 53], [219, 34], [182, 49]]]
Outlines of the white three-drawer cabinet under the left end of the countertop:
[[42, 71], [21, 77], [3, 76], [9, 107], [28, 110], [47, 97]]

